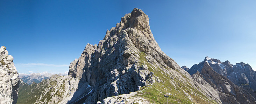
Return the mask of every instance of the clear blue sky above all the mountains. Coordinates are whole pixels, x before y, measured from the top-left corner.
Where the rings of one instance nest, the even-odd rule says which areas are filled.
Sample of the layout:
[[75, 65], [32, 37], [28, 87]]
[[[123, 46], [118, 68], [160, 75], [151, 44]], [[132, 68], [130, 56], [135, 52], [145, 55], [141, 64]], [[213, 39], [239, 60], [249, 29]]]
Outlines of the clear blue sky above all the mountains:
[[1, 0], [0, 45], [18, 72], [65, 72], [134, 8], [149, 16], [157, 43], [179, 66], [208, 56], [256, 69], [255, 0]]

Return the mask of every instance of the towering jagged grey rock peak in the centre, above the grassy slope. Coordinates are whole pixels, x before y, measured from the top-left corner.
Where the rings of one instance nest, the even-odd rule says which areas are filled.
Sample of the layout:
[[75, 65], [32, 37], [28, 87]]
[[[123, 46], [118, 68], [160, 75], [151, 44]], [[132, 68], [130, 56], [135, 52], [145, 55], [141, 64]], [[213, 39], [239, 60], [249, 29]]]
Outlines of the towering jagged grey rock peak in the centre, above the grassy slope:
[[166, 68], [178, 70], [190, 77], [160, 49], [151, 33], [148, 16], [135, 8], [107, 30], [98, 45], [86, 45], [81, 57], [71, 62], [69, 76], [95, 87], [85, 103], [96, 103], [160, 82], [149, 70], [152, 66], [161, 66], [166, 72]]

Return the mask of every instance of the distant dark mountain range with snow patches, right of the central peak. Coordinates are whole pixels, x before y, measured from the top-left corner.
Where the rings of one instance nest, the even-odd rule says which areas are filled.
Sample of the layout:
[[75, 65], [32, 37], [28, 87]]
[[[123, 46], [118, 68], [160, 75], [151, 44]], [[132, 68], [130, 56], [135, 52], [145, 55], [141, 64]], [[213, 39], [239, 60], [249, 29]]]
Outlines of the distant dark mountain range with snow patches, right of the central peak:
[[[218, 89], [221, 93], [235, 95], [235, 92], [241, 90], [240, 93], [246, 95], [250, 93], [249, 95], [256, 98], [256, 71], [249, 64], [240, 62], [233, 65], [229, 61], [221, 62], [218, 59], [205, 57], [204, 61], [194, 64], [190, 69], [186, 66], [182, 68], [190, 75], [202, 75], [212, 87]], [[238, 96], [234, 97], [237, 99]]]

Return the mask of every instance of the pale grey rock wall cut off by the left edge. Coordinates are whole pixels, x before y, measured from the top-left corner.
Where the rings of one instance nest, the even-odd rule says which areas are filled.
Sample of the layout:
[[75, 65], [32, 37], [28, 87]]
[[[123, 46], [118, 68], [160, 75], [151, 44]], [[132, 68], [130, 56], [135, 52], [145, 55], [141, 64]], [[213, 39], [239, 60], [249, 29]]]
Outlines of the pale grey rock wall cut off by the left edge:
[[16, 104], [20, 78], [5, 46], [0, 48], [0, 104]]

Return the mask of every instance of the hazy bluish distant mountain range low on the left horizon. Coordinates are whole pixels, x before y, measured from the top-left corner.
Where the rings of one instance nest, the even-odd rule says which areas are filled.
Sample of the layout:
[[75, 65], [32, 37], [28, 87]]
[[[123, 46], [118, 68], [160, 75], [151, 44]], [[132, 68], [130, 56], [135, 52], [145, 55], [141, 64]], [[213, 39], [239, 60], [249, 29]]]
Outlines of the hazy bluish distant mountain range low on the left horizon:
[[[61, 76], [65, 76], [68, 74], [68, 71], [66, 71], [65, 73], [59, 73], [58, 75]], [[49, 79], [52, 75], [54, 75], [54, 73], [49, 73], [47, 71], [45, 72], [40, 72], [40, 73], [19, 73], [19, 77], [20, 79], [27, 84], [32, 84], [33, 82], [35, 83], [40, 83], [42, 80], [44, 79]]]

